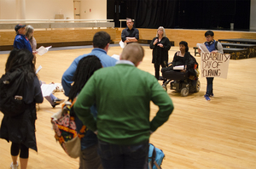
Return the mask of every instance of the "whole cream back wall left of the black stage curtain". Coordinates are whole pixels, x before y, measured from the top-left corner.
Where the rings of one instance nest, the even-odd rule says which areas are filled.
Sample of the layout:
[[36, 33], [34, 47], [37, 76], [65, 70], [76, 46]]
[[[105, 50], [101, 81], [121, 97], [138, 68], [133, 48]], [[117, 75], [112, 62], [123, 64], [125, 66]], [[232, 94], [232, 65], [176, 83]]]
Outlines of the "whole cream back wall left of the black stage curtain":
[[[24, 1], [26, 1], [26, 20], [53, 20], [55, 14], [64, 14], [65, 19], [74, 18], [73, 0]], [[80, 2], [80, 19], [107, 19], [107, 0], [81, 0]], [[0, 20], [17, 20], [16, 4], [16, 0], [0, 0]]]

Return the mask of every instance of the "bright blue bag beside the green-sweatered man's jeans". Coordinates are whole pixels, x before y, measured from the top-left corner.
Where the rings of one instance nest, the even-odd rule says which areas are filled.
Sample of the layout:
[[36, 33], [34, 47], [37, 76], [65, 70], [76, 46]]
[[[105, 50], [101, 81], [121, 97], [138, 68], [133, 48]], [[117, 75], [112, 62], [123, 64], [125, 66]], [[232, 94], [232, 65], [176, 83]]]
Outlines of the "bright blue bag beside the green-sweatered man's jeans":
[[149, 144], [148, 169], [161, 169], [161, 164], [164, 157], [165, 154], [161, 149], [154, 147], [153, 144]]

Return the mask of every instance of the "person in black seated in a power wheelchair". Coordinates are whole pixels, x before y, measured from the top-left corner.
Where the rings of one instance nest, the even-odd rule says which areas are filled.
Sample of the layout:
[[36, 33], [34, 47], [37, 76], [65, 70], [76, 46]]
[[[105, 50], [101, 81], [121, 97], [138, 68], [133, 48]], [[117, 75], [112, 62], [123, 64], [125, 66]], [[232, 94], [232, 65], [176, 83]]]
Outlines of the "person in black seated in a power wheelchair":
[[[198, 92], [200, 82], [198, 81], [199, 71], [196, 59], [189, 53], [188, 42], [179, 42], [179, 49], [174, 54], [173, 60], [168, 67], [162, 69], [163, 77], [168, 79], [163, 87], [171, 82], [171, 89], [179, 92], [182, 90], [182, 95], [187, 96], [190, 92]], [[184, 89], [183, 89], [184, 88]]]

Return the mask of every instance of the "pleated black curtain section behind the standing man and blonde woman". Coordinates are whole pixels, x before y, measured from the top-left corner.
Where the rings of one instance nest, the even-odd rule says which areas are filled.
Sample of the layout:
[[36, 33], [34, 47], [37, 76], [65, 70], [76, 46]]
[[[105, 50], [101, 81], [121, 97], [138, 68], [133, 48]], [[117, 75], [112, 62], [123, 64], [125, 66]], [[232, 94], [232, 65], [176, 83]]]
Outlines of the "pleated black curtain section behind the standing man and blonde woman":
[[[175, 27], [178, 0], [132, 0], [128, 6], [137, 28]], [[128, 8], [129, 8], [128, 7]]]

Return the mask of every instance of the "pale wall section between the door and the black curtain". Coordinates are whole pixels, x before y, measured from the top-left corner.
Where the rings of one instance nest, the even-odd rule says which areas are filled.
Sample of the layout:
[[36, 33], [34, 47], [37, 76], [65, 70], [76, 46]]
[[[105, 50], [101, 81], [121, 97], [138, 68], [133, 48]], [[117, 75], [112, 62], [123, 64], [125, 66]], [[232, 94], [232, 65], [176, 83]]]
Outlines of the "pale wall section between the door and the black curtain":
[[80, 2], [80, 19], [107, 20], [107, 0], [81, 0]]

